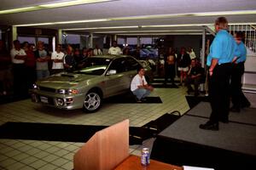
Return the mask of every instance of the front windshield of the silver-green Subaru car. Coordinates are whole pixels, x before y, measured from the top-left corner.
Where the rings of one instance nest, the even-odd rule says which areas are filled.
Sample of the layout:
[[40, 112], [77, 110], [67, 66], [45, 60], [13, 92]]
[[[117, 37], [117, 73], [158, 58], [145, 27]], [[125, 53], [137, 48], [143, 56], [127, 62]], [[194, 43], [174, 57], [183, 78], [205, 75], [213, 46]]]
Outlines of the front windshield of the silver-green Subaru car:
[[88, 74], [88, 75], [102, 75], [106, 71], [111, 59], [87, 58], [83, 62], [83, 68], [73, 71], [78, 74]]

